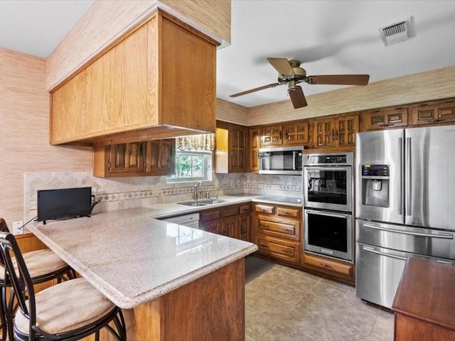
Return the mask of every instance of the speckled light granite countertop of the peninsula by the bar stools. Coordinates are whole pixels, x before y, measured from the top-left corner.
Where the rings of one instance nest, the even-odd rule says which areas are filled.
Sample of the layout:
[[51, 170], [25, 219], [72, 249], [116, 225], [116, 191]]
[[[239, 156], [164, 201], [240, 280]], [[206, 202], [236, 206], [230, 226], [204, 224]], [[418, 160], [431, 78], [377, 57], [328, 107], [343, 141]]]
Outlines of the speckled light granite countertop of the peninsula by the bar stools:
[[250, 242], [153, 219], [169, 215], [170, 207], [103, 212], [28, 229], [120, 308], [152, 301], [257, 250]]

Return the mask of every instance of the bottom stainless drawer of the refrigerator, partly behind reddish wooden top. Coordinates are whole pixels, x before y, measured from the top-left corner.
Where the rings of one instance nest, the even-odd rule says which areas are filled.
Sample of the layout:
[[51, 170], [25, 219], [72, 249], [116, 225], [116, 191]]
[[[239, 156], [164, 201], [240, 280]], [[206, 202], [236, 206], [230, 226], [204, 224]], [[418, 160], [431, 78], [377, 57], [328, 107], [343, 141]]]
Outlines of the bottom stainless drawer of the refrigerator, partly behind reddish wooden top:
[[417, 257], [453, 266], [455, 261], [424, 257], [408, 252], [356, 244], [356, 283], [358, 298], [387, 308], [392, 307], [400, 278], [408, 257]]

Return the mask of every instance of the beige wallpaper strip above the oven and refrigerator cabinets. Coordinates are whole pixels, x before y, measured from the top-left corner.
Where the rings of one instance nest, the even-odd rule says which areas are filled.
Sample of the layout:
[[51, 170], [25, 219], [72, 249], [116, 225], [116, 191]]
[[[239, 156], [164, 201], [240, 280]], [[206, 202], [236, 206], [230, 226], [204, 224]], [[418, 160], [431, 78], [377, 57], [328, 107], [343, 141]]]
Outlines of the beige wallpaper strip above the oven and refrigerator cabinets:
[[[317, 85], [303, 85], [306, 87]], [[346, 87], [306, 97], [308, 107], [294, 109], [291, 101], [249, 108], [244, 124], [292, 121], [363, 109], [455, 97], [455, 66], [373, 82], [366, 87]]]

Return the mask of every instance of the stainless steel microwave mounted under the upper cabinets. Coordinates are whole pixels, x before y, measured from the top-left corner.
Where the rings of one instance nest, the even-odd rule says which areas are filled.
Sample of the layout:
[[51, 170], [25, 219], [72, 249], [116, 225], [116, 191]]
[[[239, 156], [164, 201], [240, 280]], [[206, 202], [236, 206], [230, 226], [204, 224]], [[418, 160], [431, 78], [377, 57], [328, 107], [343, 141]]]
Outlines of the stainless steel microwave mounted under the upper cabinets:
[[259, 174], [301, 175], [303, 146], [259, 148]]

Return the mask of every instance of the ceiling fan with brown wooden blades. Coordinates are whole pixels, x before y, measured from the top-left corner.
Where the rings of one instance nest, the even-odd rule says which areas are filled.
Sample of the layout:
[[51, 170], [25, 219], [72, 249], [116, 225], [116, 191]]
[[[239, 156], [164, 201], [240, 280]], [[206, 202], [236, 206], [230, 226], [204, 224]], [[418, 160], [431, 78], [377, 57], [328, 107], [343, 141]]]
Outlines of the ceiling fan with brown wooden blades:
[[291, 97], [294, 109], [306, 107], [305, 95], [299, 83], [306, 82], [310, 85], [325, 84], [325, 85], [367, 85], [370, 75], [319, 75], [307, 76], [306, 70], [300, 67], [299, 60], [287, 60], [286, 58], [267, 58], [270, 64], [278, 71], [278, 82], [255, 89], [231, 94], [230, 97], [238, 97], [244, 94], [250, 94], [259, 90], [268, 89], [269, 87], [277, 87], [278, 85], [287, 84], [289, 97]]

